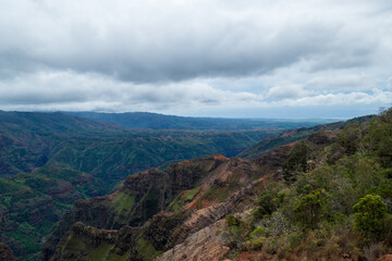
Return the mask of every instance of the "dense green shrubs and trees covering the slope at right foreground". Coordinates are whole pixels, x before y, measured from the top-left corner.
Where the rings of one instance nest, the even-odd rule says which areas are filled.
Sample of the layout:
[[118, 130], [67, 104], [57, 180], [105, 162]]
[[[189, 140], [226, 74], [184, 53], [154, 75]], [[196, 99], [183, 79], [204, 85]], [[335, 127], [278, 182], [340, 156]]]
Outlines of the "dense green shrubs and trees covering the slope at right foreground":
[[[231, 253], [338, 260], [392, 250], [392, 109], [347, 125], [328, 147], [301, 141], [283, 164], [286, 182], [267, 184], [252, 216], [229, 216]], [[314, 165], [309, 167], [309, 160]]]

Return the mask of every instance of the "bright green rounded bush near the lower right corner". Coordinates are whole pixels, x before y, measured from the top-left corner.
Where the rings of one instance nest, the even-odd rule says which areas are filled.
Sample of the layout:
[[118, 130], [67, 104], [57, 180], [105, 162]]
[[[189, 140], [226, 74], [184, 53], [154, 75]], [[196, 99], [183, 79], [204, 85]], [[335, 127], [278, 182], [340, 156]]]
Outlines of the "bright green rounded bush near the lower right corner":
[[384, 226], [387, 204], [378, 195], [366, 195], [354, 206], [354, 228], [367, 239], [378, 239]]

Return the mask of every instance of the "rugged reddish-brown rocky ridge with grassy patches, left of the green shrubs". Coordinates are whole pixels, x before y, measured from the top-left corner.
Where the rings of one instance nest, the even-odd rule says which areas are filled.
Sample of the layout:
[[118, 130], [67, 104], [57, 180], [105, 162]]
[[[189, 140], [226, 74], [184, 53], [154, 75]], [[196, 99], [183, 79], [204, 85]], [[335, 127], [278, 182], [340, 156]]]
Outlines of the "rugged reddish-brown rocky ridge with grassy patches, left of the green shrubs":
[[[323, 149], [334, 138], [335, 132], [322, 130], [308, 142]], [[293, 146], [256, 160], [212, 156], [128, 176], [112, 195], [77, 201], [46, 244], [44, 260], [53, 253], [52, 261], [91, 260], [98, 253], [94, 260], [223, 259], [229, 248], [218, 231], [224, 217], [256, 206], [261, 187], [281, 178]]]

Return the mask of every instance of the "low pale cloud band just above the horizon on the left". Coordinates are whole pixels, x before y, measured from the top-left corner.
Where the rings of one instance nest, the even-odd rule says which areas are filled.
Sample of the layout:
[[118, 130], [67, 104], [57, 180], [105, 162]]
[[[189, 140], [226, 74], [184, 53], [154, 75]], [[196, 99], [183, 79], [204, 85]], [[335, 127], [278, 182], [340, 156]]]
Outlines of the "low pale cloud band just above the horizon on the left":
[[0, 83], [0, 103], [11, 110], [157, 111], [245, 104], [258, 99], [252, 92], [222, 90], [206, 83], [132, 84], [72, 71], [42, 72]]

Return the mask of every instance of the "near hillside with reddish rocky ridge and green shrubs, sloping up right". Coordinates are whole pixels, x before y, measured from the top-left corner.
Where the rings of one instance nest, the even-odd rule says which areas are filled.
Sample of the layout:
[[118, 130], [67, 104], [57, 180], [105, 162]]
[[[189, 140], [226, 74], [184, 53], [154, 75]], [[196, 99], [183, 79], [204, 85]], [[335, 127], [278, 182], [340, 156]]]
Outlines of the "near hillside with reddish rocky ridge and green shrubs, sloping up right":
[[54, 261], [376, 260], [392, 252], [391, 200], [392, 109], [255, 160], [213, 156], [128, 177], [78, 201], [44, 260], [61, 235]]

